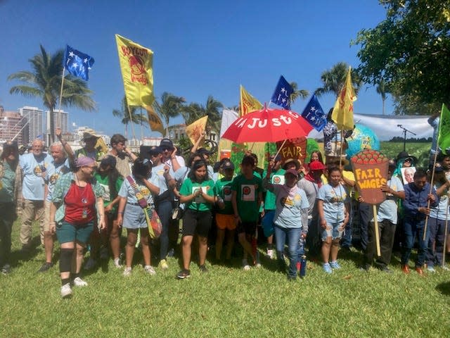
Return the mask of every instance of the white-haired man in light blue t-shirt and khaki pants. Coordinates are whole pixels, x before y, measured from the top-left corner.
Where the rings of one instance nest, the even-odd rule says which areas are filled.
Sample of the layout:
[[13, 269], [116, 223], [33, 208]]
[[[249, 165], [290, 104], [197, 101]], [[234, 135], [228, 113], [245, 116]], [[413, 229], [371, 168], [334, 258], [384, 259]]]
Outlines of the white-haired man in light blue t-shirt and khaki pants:
[[35, 139], [32, 143], [32, 151], [20, 156], [20, 168], [22, 168], [23, 185], [23, 212], [22, 226], [20, 227], [20, 243], [22, 250], [30, 251], [32, 239], [32, 223], [37, 220], [40, 225], [41, 244], [44, 245], [44, 186], [46, 170], [51, 164], [51, 156], [45, 154], [44, 142]]

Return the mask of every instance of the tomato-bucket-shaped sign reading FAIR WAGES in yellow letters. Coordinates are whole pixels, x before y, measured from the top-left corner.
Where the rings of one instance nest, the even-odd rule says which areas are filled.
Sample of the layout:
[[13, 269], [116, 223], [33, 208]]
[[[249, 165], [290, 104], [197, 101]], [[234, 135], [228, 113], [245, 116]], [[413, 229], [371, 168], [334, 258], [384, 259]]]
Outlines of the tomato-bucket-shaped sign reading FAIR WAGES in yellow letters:
[[365, 149], [352, 156], [356, 185], [364, 201], [380, 204], [385, 200], [381, 186], [387, 182], [388, 158], [380, 151]]

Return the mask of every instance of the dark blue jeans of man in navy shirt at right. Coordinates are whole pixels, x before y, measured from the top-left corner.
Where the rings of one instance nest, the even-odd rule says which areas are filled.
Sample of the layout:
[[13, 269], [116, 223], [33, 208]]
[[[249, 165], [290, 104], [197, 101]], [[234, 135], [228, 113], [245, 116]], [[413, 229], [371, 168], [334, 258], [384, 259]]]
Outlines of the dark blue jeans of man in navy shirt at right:
[[428, 234], [425, 241], [423, 240], [423, 229], [425, 227], [425, 218], [418, 219], [416, 217], [410, 217], [405, 215], [404, 219], [404, 244], [401, 247], [401, 264], [406, 265], [409, 262], [409, 257], [411, 256], [411, 249], [413, 249], [414, 241], [416, 236], [419, 243], [419, 249], [417, 252], [416, 268], [421, 268], [425, 263], [425, 258], [428, 252]]

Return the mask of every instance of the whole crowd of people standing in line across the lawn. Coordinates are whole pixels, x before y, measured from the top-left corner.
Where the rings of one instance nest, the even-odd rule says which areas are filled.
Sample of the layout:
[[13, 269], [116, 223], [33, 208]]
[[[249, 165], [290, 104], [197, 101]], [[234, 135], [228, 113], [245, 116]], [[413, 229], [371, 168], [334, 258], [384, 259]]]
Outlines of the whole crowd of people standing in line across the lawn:
[[[401, 270], [409, 273], [416, 239], [414, 268], [419, 275], [424, 266], [429, 273], [437, 266], [447, 269], [444, 246], [450, 156], [439, 155], [428, 173], [417, 168], [411, 182], [403, 181], [406, 174], [402, 168], [415, 168], [416, 158], [399, 154], [397, 160], [389, 161], [387, 182], [381, 187], [386, 198], [376, 206], [378, 256], [373, 213], [359, 196], [339, 146], [331, 149], [326, 142], [326, 161], [320, 151], [312, 152], [306, 163], [295, 158], [282, 161], [272, 155], [262, 169], [250, 152], [240, 168], [229, 158], [213, 167], [210, 152], [198, 148], [199, 142], [185, 162], [170, 139], [162, 139], [159, 146], [136, 156], [120, 134], [111, 137], [105, 154], [96, 149], [98, 137], [94, 134], [85, 132], [84, 147], [77, 151], [72, 151], [60, 130], [56, 137], [58, 141], [48, 152], [40, 139], [21, 155], [14, 142], [4, 144], [0, 157], [0, 268], [4, 274], [11, 271], [11, 233], [18, 206], [22, 209], [20, 243], [25, 256], [33, 249], [32, 224], [39, 223], [45, 251], [39, 273], [53, 267], [54, 244], [56, 239], [59, 242], [63, 298], [72, 295], [72, 287], [87, 285], [82, 268], [93, 269], [101, 261], [111, 258], [116, 268], [123, 268], [124, 276], [131, 275], [136, 248], [149, 275], [155, 275], [157, 267], [167, 270], [167, 257], [177, 249], [181, 259], [177, 278], [191, 276], [193, 257], [199, 270], [207, 273], [207, 253], [213, 245], [210, 260], [231, 266], [236, 242], [242, 248], [243, 270], [258, 268], [257, 237], [259, 244], [264, 238], [266, 256], [276, 258], [278, 269], [287, 273], [289, 280], [304, 270], [305, 250], [311, 258], [320, 257], [323, 272], [330, 274], [340, 268], [340, 249], [352, 245], [355, 208], [364, 252], [361, 270], [375, 265], [392, 273], [392, 248], [399, 242]], [[150, 219], [156, 215], [162, 230], [158, 239], [149, 232]], [[122, 229], [127, 230], [124, 248]], [[89, 259], [83, 265], [87, 251]]]

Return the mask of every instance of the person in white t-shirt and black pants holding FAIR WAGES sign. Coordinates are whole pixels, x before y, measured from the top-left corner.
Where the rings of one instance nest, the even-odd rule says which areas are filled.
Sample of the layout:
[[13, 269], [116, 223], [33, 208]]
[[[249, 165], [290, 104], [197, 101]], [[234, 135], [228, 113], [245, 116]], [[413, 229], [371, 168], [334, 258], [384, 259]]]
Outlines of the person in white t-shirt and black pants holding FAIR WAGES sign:
[[[386, 199], [378, 206], [377, 220], [380, 231], [380, 253], [381, 256], [375, 258], [375, 265], [385, 273], [392, 273], [387, 267], [391, 261], [392, 246], [394, 245], [395, 228], [397, 227], [397, 200], [405, 198], [405, 192], [401, 180], [397, 176], [392, 176], [396, 168], [394, 160], [390, 160], [387, 170], [387, 182], [382, 184], [380, 189], [385, 192]], [[364, 199], [360, 197], [364, 202]], [[372, 218], [368, 226], [368, 241], [364, 251], [364, 270], [368, 271], [375, 256], [375, 221]]]

